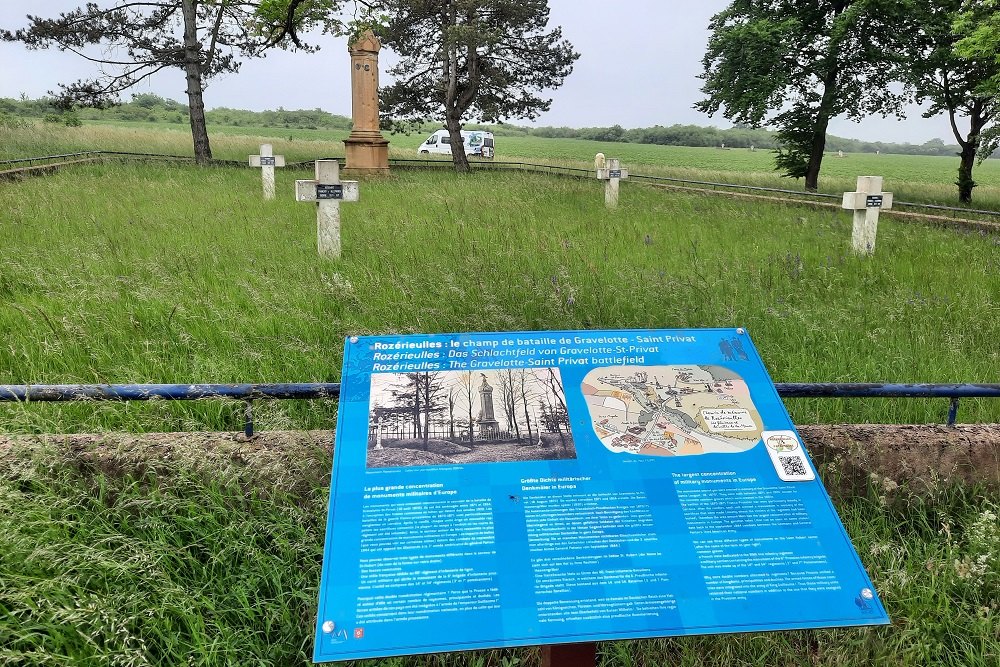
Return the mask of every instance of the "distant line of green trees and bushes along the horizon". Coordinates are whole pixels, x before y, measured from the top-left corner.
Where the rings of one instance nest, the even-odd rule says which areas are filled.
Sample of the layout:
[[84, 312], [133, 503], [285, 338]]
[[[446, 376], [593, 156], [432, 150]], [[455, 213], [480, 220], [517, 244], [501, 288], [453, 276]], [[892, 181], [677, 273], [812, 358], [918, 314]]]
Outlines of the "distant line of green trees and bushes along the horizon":
[[[122, 120], [150, 123], [188, 122], [187, 105], [151, 93], [133, 96], [132, 101], [110, 109], [80, 109], [59, 112], [46, 98], [38, 100], [0, 98], [0, 121], [3, 116], [14, 118], [40, 118], [53, 123], [78, 125], [84, 120]], [[350, 130], [351, 119], [338, 116], [321, 109], [277, 111], [246, 111], [219, 107], [206, 113], [209, 125], [236, 127], [294, 128], [305, 130]], [[2, 124], [2, 123], [0, 123]], [[418, 132], [430, 134], [441, 126], [426, 124]], [[721, 130], [717, 127], [699, 125], [655, 125], [625, 129], [621, 125], [611, 127], [524, 127], [520, 125], [469, 125], [469, 129], [490, 130], [500, 136], [533, 136], [559, 139], [589, 139], [592, 141], [621, 142], [632, 144], [659, 144], [661, 146], [722, 146], [731, 148], [773, 149], [775, 133], [769, 130], [755, 130], [748, 127], [733, 127]], [[946, 144], [940, 139], [931, 139], [924, 144], [895, 144], [886, 142], [859, 141], [833, 135], [827, 136], [828, 151], [845, 153], [901, 153], [905, 155], [953, 156], [959, 152], [956, 145]]]

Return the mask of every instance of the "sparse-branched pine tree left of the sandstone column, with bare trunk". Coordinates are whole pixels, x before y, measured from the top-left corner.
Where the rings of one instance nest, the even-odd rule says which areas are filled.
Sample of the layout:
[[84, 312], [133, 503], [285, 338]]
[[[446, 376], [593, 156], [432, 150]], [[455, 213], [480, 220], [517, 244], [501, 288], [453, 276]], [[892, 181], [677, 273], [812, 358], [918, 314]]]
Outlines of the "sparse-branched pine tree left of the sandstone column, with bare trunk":
[[[101, 66], [101, 74], [92, 80], [60, 84], [56, 100], [62, 108], [107, 107], [157, 72], [182, 70], [194, 155], [205, 163], [212, 158], [205, 125], [206, 82], [238, 71], [238, 56], [257, 56], [284, 43], [286, 33], [258, 29], [262, 24], [257, 12], [269, 3], [273, 0], [116, 0], [103, 7], [88, 2], [58, 18], [29, 15], [27, 28], [0, 30], [0, 39], [22, 42], [29, 49], [70, 51]], [[292, 18], [301, 24], [315, 20], [315, 15], [301, 8]], [[97, 45], [103, 46], [99, 54], [88, 48]]]

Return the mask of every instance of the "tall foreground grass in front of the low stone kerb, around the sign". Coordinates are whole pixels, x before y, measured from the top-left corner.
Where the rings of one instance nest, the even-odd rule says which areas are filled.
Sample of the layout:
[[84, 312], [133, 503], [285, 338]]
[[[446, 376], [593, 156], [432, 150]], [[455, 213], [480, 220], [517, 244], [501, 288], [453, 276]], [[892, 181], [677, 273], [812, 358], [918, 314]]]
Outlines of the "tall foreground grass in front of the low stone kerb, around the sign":
[[[309, 664], [328, 477], [292, 488], [233, 466], [101, 468], [47, 450], [0, 463], [0, 665]], [[327, 455], [304, 463], [330, 469]], [[996, 665], [995, 496], [883, 480], [836, 500], [891, 626], [608, 642], [601, 667]], [[349, 664], [537, 661], [518, 649]]]

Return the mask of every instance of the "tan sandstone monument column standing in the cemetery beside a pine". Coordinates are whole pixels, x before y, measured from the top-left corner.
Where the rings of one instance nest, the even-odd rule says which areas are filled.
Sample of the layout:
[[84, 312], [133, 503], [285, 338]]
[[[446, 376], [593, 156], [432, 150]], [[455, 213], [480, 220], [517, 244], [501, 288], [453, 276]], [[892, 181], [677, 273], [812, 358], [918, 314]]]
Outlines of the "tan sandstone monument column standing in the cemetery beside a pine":
[[344, 139], [346, 169], [358, 174], [389, 173], [389, 141], [378, 125], [378, 52], [382, 44], [366, 30], [348, 45], [354, 129]]

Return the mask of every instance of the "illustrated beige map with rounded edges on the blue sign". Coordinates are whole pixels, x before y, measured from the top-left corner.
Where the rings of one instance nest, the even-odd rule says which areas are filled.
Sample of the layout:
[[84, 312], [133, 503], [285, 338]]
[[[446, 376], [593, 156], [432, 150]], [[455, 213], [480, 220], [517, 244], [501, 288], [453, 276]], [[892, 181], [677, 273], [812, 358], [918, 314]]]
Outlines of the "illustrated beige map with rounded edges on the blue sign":
[[722, 366], [609, 366], [582, 385], [594, 432], [615, 453], [745, 452], [763, 422], [747, 383]]

